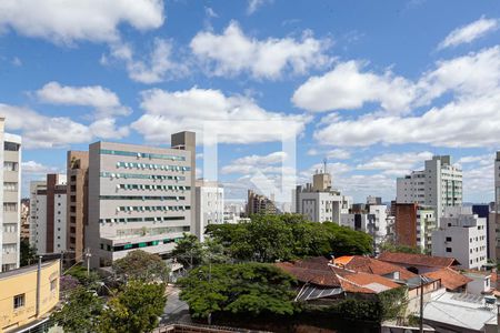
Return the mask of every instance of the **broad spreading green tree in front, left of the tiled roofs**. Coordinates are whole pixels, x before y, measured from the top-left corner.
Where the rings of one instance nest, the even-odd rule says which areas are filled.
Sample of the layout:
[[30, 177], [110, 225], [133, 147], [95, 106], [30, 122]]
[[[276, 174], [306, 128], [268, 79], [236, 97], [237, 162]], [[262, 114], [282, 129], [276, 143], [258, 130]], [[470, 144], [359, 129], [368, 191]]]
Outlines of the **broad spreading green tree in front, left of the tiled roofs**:
[[296, 311], [296, 280], [271, 264], [203, 265], [178, 282], [180, 297], [193, 317], [214, 313], [291, 315]]

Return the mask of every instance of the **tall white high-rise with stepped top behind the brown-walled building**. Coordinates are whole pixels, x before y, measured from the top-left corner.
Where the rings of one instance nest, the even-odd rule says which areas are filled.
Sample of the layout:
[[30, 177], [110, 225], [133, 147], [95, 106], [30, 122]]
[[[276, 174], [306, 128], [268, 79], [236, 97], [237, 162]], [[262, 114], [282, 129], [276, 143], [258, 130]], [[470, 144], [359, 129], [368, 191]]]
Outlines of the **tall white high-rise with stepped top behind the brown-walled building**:
[[462, 171], [451, 164], [449, 155], [426, 161], [424, 170], [397, 180], [397, 203], [431, 206], [439, 219], [447, 206], [462, 204]]

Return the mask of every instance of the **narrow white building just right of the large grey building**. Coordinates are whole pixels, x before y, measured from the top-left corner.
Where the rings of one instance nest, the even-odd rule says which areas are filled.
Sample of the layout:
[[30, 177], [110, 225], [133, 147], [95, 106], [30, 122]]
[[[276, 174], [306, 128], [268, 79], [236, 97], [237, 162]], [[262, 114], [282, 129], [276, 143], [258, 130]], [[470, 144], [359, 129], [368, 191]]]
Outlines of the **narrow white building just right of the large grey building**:
[[194, 233], [204, 241], [204, 229], [209, 224], [224, 222], [224, 189], [218, 182], [196, 181], [196, 230]]

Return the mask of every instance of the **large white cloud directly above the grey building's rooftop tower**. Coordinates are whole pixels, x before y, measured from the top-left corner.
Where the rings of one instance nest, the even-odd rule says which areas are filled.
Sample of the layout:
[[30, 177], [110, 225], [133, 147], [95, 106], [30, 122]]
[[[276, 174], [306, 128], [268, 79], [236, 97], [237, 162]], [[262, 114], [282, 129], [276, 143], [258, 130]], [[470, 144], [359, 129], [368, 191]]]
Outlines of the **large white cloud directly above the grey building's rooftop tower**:
[[[219, 90], [147, 90], [141, 93], [144, 114], [131, 127], [148, 142], [169, 142], [170, 134], [191, 130], [202, 141], [203, 130], [218, 134], [219, 143], [281, 141], [300, 134], [310, 118], [260, 108], [252, 99], [227, 97]], [[286, 132], [279, 125], [287, 127]], [[214, 143], [214, 142], [207, 142]]]

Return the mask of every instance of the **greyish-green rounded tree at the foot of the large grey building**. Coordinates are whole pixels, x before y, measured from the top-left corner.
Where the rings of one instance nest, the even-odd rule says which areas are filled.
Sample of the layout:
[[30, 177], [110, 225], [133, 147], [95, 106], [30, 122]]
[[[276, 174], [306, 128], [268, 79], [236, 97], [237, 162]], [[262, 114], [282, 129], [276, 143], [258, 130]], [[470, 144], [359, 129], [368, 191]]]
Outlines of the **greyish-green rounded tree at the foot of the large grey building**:
[[124, 280], [146, 282], [167, 281], [169, 269], [158, 254], [141, 250], [129, 252], [124, 258], [113, 262], [116, 274]]

